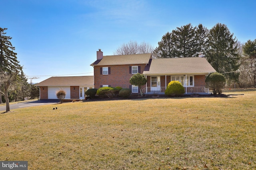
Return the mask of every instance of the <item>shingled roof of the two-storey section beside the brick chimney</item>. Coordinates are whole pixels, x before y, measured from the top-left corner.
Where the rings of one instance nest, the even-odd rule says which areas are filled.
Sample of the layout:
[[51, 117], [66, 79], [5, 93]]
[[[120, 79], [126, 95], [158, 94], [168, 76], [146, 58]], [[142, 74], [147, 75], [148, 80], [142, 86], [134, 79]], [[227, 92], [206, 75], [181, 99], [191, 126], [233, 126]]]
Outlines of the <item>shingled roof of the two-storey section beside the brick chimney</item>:
[[126, 64], [148, 64], [152, 59], [151, 53], [133, 55], [107, 55], [97, 60], [91, 66], [126, 65]]

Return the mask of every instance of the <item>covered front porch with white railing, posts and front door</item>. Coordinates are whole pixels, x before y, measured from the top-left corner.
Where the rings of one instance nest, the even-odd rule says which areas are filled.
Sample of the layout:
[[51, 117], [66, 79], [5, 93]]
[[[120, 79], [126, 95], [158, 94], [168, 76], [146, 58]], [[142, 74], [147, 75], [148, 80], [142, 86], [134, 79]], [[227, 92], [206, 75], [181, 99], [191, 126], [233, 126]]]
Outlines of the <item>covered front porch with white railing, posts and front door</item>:
[[153, 75], [146, 76], [147, 83], [142, 88], [144, 94], [164, 94], [170, 81], [179, 81], [185, 90], [185, 94], [209, 94], [205, 87], [206, 75]]

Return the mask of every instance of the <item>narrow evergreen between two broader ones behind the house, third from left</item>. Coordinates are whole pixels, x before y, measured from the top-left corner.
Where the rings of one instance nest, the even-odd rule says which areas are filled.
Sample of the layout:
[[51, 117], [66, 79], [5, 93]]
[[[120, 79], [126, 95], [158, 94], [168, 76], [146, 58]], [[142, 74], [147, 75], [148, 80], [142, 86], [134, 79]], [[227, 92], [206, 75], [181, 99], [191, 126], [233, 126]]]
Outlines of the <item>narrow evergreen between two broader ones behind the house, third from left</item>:
[[195, 38], [196, 38], [196, 52], [197, 53], [206, 53], [207, 49], [207, 39], [208, 39], [209, 30], [200, 23], [196, 27]]

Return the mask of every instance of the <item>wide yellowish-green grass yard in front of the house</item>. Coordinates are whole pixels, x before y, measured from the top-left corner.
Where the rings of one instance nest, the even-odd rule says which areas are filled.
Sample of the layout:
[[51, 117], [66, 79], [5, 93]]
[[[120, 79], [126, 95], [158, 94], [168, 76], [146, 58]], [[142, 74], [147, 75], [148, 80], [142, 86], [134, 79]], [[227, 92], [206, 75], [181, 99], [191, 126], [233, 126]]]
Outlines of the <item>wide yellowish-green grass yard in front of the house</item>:
[[0, 114], [0, 160], [29, 170], [256, 169], [256, 91], [224, 93], [244, 95], [15, 109]]

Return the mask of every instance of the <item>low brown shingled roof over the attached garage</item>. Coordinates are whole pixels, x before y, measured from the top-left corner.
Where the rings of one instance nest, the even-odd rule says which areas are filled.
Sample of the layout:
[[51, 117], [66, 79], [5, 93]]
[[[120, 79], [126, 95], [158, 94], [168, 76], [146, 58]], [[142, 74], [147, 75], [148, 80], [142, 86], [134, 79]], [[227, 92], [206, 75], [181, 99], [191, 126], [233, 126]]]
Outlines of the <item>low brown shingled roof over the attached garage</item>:
[[50, 77], [35, 86], [93, 86], [94, 76]]

